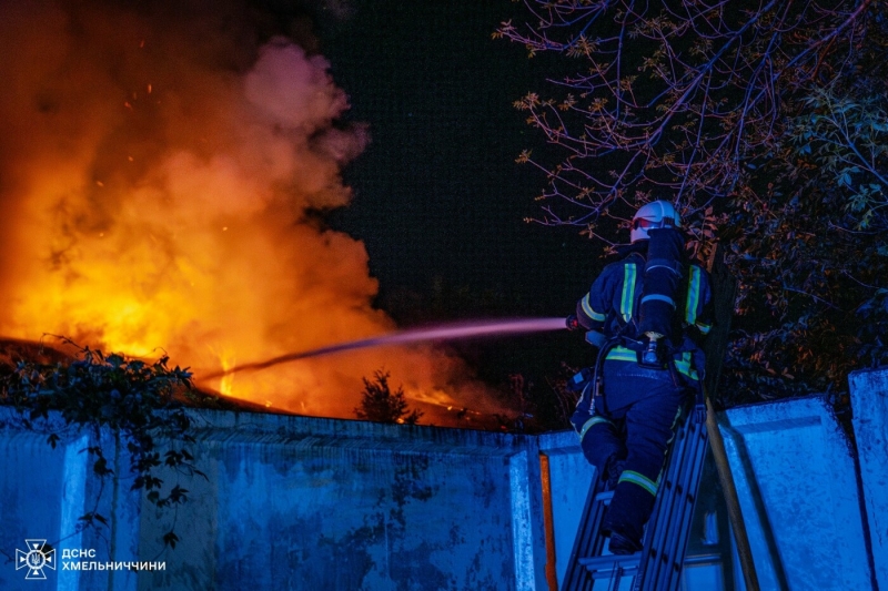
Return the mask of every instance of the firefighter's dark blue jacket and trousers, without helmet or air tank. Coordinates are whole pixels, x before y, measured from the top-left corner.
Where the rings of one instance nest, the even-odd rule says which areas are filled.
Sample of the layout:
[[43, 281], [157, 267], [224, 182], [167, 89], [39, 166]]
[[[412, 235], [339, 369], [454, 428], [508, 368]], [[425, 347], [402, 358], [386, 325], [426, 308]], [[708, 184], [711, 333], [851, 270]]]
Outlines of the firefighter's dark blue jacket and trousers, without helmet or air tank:
[[[644, 289], [645, 243], [607, 265], [576, 307], [577, 320], [606, 339], [639, 339], [637, 320]], [[712, 327], [712, 289], [706, 271], [684, 262], [683, 287], [673, 313], [676, 371], [638, 365], [639, 353], [617, 345], [604, 361], [603, 396], [589, 384], [571, 422], [585, 457], [615, 487], [604, 528], [640, 543], [650, 517], [668, 442], [688, 391], [704, 371], [700, 339]], [[636, 347], [637, 348], [637, 347]], [[676, 384], [680, 381], [680, 384]]]

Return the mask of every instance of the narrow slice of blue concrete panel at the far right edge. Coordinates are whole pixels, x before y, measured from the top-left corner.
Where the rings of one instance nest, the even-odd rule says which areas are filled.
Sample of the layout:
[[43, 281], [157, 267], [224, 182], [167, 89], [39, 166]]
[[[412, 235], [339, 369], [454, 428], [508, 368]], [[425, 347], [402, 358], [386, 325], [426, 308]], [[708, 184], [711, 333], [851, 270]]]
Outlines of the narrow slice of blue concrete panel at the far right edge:
[[888, 369], [848, 377], [876, 578], [888, 589]]

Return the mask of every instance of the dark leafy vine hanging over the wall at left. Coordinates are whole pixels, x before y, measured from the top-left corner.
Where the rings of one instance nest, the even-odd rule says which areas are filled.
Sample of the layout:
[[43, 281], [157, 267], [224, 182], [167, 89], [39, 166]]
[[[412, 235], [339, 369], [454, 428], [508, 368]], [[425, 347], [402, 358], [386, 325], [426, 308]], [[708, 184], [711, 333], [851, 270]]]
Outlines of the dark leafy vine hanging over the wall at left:
[[[188, 500], [188, 489], [179, 482], [164, 482], [158, 470], [164, 467], [178, 476], [205, 478], [181, 444], [193, 441], [183, 403], [196, 403], [202, 397], [193, 391], [186, 369], [168, 364], [167, 356], [145, 363], [90, 348], [80, 349], [69, 363], [22, 360], [0, 371], [0, 404], [19, 409], [21, 425], [33, 430], [44, 430], [41, 419], [58, 411], [68, 426], [92, 429], [97, 440], [102, 427], [122, 435], [135, 476], [132, 489], [144, 490], [148, 501], [175, 512]], [[59, 434], [50, 430], [47, 442], [56, 448], [59, 440]], [[92, 456], [92, 470], [102, 486], [92, 510], [80, 517], [80, 528], [107, 527], [108, 519], [98, 508], [105, 480], [114, 472], [100, 446], [83, 451]], [[179, 537], [170, 529], [163, 541], [175, 548]]]

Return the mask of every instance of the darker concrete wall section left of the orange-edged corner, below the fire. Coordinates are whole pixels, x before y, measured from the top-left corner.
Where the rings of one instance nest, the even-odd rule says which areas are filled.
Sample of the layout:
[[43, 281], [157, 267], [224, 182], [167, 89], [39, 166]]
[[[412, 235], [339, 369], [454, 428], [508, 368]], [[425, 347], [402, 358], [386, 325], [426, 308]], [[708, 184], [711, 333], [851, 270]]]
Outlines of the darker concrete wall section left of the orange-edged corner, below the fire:
[[[0, 409], [7, 411], [7, 409]], [[545, 587], [536, 439], [453, 429], [273, 415], [195, 411], [188, 448], [206, 478], [161, 472], [188, 489], [178, 511], [131, 492], [121, 447], [107, 434], [0, 436], [0, 549], [27, 539], [98, 562], [163, 561], [164, 570], [47, 573], [0, 568], [0, 589], [477, 589]], [[14, 422], [14, 421], [13, 421]], [[58, 427], [58, 424], [57, 424]], [[47, 431], [51, 429], [46, 429]], [[104, 446], [120, 478], [98, 490]], [[180, 444], [175, 447], [179, 448]], [[78, 532], [100, 499], [111, 527]], [[174, 551], [163, 534], [180, 536]]]

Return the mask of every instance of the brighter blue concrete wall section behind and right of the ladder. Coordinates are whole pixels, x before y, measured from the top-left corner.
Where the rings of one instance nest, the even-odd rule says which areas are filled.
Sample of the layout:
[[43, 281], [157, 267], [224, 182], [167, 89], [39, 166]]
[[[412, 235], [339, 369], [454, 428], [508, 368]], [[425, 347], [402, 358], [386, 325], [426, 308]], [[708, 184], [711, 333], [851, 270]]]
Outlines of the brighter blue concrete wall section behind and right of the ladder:
[[[888, 373], [866, 377], [866, 386], [855, 378], [851, 383], [857, 385], [858, 397], [867, 393], [862, 397], [868, 405], [855, 399], [855, 430], [866, 448], [861, 449], [861, 463], [866, 467], [867, 513], [871, 529], [878, 532], [888, 527]], [[871, 394], [875, 384], [882, 388], [880, 396]], [[858, 407], [867, 408], [865, 419]], [[861, 420], [866, 427], [858, 426]], [[877, 571], [888, 569], [888, 532], [875, 537], [876, 548], [870, 552], [851, 444], [826, 400], [809, 397], [738, 407], [720, 415], [718, 422], [761, 589], [872, 589], [874, 553]], [[577, 452], [573, 432], [543, 435], [539, 449], [551, 458], [556, 570], [562, 580], [593, 470]], [[725, 543], [730, 548], [731, 541], [712, 463], [704, 469], [699, 498], [689, 559], [724, 552]], [[715, 538], [706, 531], [706, 513], [720, 526]], [[739, 565], [725, 558], [722, 563], [695, 565], [694, 577], [685, 578], [685, 588], [709, 590], [720, 584], [743, 589]], [[686, 574], [692, 572], [686, 570]], [[888, 589], [888, 582], [881, 588]]]

